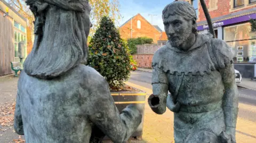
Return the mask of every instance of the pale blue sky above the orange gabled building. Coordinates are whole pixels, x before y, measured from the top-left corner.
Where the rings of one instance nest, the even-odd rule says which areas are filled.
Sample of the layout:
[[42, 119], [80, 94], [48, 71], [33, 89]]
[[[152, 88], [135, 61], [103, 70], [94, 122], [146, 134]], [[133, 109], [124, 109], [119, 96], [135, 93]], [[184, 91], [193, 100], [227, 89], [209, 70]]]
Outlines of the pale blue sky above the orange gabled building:
[[[162, 11], [171, 2], [173, 0], [119, 0], [122, 16], [119, 26], [132, 18], [132, 16], [140, 13], [148, 22], [153, 22], [151, 24], [159, 26], [164, 31]], [[152, 20], [149, 14], [154, 15]]]

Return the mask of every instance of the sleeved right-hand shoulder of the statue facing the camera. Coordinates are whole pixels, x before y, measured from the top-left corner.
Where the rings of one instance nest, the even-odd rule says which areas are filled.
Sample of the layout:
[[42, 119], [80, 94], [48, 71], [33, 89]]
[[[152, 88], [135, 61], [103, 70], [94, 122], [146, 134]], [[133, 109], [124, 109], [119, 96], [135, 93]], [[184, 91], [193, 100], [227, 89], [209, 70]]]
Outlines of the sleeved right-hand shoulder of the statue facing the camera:
[[219, 68], [225, 68], [233, 63], [233, 54], [231, 47], [221, 39], [211, 38], [211, 47]]

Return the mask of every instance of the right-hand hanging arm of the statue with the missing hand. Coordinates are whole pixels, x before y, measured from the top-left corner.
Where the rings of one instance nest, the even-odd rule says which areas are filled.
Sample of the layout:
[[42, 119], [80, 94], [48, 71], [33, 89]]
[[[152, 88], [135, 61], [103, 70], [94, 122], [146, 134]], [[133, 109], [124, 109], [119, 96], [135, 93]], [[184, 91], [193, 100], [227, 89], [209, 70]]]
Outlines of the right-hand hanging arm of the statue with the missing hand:
[[225, 93], [223, 96], [223, 110], [227, 129], [236, 128], [238, 113], [238, 89], [235, 82], [235, 69], [231, 48], [220, 39], [212, 39], [211, 45], [217, 61], [217, 69], [222, 76]]

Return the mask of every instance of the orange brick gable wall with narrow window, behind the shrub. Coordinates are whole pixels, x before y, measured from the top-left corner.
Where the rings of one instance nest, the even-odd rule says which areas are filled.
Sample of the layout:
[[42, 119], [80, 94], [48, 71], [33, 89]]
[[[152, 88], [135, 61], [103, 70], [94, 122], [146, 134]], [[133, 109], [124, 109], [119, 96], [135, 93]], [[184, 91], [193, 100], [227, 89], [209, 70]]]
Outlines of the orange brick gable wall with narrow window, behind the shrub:
[[[141, 22], [141, 29], [137, 28], [137, 21]], [[131, 21], [127, 22], [124, 26], [119, 28], [121, 38], [129, 39], [131, 38]], [[132, 38], [137, 37], [149, 37], [154, 40], [154, 43], [157, 43], [157, 40], [161, 39], [161, 32], [159, 32], [155, 27], [153, 27], [145, 18], [140, 14], [137, 14], [132, 18]]]

